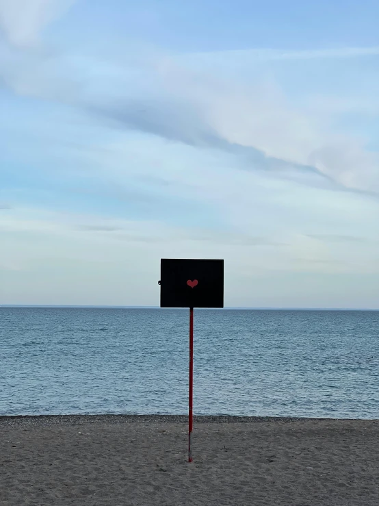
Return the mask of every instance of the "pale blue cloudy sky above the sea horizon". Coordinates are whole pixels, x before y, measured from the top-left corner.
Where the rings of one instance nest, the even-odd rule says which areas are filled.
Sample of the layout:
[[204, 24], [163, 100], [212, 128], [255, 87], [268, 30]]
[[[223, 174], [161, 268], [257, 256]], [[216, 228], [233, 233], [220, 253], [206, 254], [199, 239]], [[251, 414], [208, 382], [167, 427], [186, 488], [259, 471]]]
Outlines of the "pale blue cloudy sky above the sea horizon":
[[0, 0], [0, 304], [379, 309], [376, 0]]

